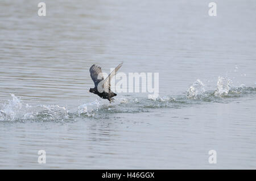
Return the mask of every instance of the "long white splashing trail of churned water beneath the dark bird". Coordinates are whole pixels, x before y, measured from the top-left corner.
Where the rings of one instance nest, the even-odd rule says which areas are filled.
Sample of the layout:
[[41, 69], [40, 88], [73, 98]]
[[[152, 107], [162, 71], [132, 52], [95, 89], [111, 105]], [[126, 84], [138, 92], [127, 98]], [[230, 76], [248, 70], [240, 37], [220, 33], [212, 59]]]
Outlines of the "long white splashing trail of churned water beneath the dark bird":
[[232, 87], [232, 81], [225, 77], [218, 77], [216, 90], [206, 91], [204, 83], [197, 79], [183, 95], [152, 99], [117, 98], [112, 104], [97, 99], [92, 103], [81, 104], [76, 112], [69, 112], [68, 108], [61, 106], [30, 106], [11, 94], [13, 99], [0, 106], [0, 121], [73, 121], [77, 117], [106, 119], [111, 113], [150, 112], [155, 108], [181, 108], [191, 104], [229, 102], [232, 98], [255, 93], [255, 87]]

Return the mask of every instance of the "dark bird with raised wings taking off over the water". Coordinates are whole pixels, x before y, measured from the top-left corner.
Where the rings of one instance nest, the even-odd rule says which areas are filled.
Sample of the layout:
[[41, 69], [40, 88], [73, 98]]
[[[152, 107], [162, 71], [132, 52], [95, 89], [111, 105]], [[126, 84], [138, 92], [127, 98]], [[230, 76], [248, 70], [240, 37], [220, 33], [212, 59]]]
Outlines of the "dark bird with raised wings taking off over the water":
[[92, 92], [93, 94], [97, 94], [102, 99], [108, 99], [109, 103], [113, 102], [114, 98], [113, 96], [116, 96], [113, 91], [110, 90], [110, 81], [111, 78], [114, 77], [114, 75], [117, 73], [119, 68], [123, 63], [119, 64], [110, 74], [107, 78], [104, 79], [103, 73], [101, 71], [101, 68], [95, 64], [93, 64], [90, 67], [90, 77], [92, 78], [94, 82], [94, 88], [90, 88], [89, 92]]

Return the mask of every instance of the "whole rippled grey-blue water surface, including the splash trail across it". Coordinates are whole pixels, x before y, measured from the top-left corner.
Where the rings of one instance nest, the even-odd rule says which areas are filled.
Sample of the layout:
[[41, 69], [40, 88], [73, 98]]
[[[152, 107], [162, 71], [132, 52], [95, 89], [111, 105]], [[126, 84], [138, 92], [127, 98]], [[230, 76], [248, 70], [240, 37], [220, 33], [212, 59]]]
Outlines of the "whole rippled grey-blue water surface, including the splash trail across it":
[[[256, 169], [255, 1], [44, 2], [0, 2], [0, 169]], [[120, 62], [159, 99], [88, 92]]]

